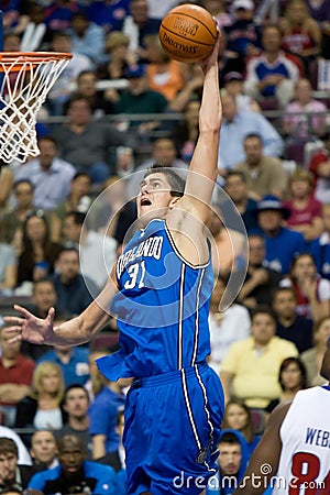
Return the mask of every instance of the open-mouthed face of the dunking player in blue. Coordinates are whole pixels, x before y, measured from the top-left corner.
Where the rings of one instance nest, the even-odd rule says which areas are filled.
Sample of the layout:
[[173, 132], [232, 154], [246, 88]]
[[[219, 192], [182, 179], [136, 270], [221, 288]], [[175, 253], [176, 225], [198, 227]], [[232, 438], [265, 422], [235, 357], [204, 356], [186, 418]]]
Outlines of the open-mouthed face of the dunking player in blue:
[[166, 176], [162, 173], [151, 174], [140, 184], [140, 194], [138, 196], [138, 217], [147, 213], [164, 216], [172, 201], [170, 186]]

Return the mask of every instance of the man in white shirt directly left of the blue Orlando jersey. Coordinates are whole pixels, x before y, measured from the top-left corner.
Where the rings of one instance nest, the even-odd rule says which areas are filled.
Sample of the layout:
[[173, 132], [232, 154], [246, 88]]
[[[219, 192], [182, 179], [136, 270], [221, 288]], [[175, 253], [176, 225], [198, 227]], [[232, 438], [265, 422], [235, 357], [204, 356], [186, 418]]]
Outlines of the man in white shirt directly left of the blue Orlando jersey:
[[[72, 211], [66, 215], [63, 224], [63, 234], [67, 242], [73, 243], [80, 253], [80, 268], [87, 288], [92, 296], [95, 286], [98, 288], [106, 284], [116, 260], [117, 242], [109, 235], [89, 230], [86, 224], [86, 215]], [[88, 284], [88, 279], [94, 285]]]

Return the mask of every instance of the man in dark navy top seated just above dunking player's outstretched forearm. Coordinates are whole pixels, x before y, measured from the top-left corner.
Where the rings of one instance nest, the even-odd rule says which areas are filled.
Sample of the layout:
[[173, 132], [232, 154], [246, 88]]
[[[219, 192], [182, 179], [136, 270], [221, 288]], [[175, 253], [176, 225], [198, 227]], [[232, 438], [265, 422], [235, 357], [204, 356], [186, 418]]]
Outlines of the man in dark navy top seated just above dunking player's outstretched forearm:
[[[92, 301], [85, 278], [80, 273], [79, 251], [74, 248], [63, 248], [56, 260], [56, 273], [52, 277], [57, 295], [59, 311], [68, 315], [80, 315]], [[88, 287], [94, 285], [88, 280]], [[94, 293], [98, 290], [94, 287]]]

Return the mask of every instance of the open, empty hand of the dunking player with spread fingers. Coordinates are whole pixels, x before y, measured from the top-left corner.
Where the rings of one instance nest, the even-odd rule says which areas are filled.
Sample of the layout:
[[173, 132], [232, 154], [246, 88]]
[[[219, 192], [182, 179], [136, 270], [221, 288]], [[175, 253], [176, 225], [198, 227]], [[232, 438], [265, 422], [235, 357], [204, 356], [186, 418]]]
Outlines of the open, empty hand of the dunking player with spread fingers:
[[36, 344], [52, 344], [54, 334], [53, 322], [55, 309], [51, 308], [45, 319], [36, 318], [32, 312], [22, 306], [14, 305], [14, 309], [22, 315], [22, 317], [4, 317], [4, 321], [11, 327], [4, 329], [4, 332], [11, 337], [9, 342], [18, 342], [28, 340], [28, 342]]

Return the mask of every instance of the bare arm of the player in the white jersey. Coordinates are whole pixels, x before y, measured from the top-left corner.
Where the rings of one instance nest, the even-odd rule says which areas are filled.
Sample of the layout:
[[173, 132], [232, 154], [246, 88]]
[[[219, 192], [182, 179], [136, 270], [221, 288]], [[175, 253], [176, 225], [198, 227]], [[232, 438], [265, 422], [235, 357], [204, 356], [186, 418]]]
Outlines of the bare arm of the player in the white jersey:
[[240, 487], [233, 495], [262, 495], [272, 476], [276, 475], [282, 451], [279, 429], [290, 404], [277, 406], [270, 416], [267, 428], [253, 451]]

